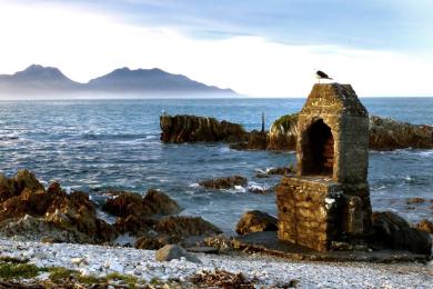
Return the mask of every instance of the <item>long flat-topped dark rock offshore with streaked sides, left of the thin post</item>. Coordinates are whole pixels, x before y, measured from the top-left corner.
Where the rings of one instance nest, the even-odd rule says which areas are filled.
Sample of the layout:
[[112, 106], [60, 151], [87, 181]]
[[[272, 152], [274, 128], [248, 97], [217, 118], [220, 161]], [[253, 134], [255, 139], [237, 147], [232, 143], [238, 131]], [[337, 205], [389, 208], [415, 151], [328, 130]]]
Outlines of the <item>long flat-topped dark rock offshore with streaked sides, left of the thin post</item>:
[[195, 142], [195, 141], [243, 141], [248, 132], [242, 126], [214, 118], [195, 116], [161, 116], [160, 127], [163, 142]]

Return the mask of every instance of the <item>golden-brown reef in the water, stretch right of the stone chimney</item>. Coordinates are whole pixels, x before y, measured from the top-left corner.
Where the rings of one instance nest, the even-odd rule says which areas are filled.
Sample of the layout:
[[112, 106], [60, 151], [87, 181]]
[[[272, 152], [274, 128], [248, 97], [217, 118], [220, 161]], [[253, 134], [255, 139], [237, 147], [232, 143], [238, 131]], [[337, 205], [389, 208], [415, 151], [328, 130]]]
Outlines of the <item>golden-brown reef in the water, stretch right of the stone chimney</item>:
[[433, 148], [433, 127], [372, 116], [370, 118], [370, 149], [402, 148]]

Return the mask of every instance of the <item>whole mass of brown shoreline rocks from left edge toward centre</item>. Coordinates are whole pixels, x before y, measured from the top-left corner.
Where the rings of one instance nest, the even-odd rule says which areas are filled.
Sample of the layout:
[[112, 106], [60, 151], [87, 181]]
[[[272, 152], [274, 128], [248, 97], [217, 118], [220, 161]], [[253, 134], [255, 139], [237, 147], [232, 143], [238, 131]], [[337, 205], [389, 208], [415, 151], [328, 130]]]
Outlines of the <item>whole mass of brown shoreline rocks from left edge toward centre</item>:
[[221, 232], [200, 217], [169, 216], [181, 208], [158, 190], [149, 190], [144, 197], [108, 192], [112, 197], [102, 209], [118, 217], [114, 225], [109, 225], [97, 217], [97, 206], [85, 192], [68, 195], [58, 182], [44, 189], [29, 171], [1, 177], [0, 187], [0, 232], [26, 240], [112, 243], [120, 233], [129, 233], [138, 237], [138, 248], [159, 249], [192, 236], [204, 238]]

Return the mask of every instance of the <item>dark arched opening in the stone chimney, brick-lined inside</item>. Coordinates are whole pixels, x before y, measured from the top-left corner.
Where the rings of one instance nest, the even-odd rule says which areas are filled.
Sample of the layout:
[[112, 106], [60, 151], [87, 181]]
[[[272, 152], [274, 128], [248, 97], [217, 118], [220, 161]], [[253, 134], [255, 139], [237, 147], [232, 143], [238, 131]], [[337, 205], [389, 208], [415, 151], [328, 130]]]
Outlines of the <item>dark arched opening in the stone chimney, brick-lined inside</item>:
[[302, 141], [303, 175], [332, 176], [334, 167], [334, 138], [322, 119], [310, 126]]

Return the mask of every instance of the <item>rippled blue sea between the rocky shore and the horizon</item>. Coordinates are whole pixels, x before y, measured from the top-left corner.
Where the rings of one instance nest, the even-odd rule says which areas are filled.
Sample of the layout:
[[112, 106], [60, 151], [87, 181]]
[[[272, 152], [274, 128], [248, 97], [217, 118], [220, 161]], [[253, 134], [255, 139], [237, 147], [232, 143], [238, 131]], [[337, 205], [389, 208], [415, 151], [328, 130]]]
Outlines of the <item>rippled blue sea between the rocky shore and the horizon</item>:
[[[289, 166], [293, 152], [236, 151], [225, 143], [164, 144], [159, 116], [197, 114], [225, 119], [246, 130], [296, 112], [305, 99], [163, 99], [0, 101], [0, 172], [30, 169], [48, 185], [88, 191], [101, 201], [108, 188], [145, 193], [161, 189], [175, 199], [182, 215], [202, 216], [232, 232], [251, 209], [276, 213], [274, 195], [246, 188], [213, 191], [200, 180], [241, 175], [249, 186], [272, 187], [278, 176], [256, 178], [259, 170]], [[433, 98], [361, 99], [370, 114], [433, 124]], [[432, 218], [433, 150], [370, 152], [369, 181], [373, 210], [393, 210], [419, 221]], [[407, 198], [426, 202], [406, 205]]]

